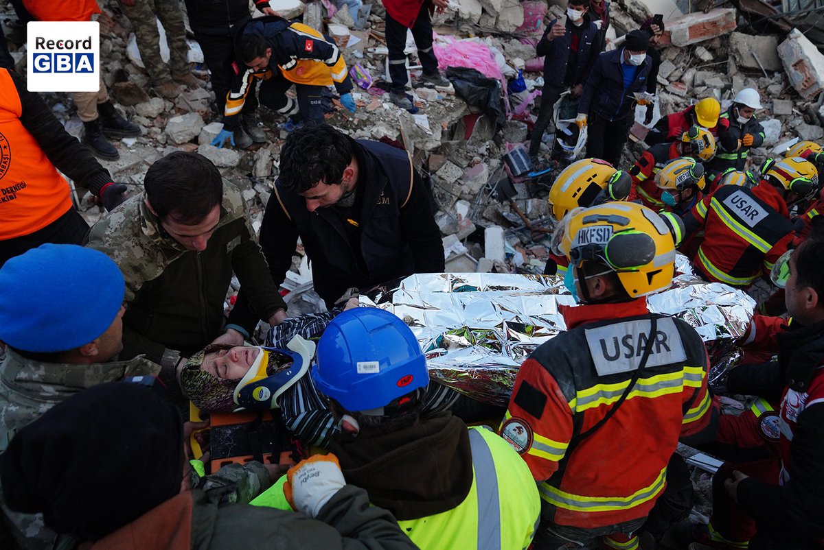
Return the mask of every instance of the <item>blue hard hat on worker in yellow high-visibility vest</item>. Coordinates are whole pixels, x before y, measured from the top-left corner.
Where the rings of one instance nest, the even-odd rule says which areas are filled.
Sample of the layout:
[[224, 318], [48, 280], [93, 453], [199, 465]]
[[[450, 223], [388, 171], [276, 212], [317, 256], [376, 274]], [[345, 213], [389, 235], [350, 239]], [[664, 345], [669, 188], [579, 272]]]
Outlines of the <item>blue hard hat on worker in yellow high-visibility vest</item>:
[[372, 307], [332, 319], [311, 375], [322, 394], [352, 412], [384, 407], [429, 383], [426, 358], [410, 328]]

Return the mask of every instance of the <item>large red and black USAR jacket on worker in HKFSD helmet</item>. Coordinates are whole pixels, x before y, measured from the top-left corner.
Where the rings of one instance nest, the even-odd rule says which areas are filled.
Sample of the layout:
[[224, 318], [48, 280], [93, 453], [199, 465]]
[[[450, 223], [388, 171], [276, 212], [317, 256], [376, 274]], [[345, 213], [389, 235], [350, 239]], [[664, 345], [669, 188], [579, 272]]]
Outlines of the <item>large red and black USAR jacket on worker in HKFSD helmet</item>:
[[569, 331], [524, 361], [501, 435], [541, 482], [550, 526], [589, 532], [643, 521], [679, 438], [704, 437], [711, 425], [704, 343], [680, 319], [650, 315], [644, 298], [559, 309]]

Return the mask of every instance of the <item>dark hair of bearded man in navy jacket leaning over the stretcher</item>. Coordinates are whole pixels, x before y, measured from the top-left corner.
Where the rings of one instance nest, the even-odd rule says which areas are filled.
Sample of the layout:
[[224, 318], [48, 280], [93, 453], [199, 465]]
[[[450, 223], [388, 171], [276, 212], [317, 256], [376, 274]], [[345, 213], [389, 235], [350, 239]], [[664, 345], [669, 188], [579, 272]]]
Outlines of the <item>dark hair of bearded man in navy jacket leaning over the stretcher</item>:
[[305, 193], [316, 184], [338, 185], [352, 162], [353, 142], [329, 124], [306, 124], [289, 134], [280, 150], [280, 184]]

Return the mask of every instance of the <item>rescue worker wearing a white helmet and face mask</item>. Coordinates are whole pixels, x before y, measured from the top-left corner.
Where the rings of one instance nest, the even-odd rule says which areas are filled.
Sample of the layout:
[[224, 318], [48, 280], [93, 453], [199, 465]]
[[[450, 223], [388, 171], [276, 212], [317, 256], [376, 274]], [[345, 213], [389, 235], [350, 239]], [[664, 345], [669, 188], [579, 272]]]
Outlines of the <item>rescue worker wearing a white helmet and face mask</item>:
[[[733, 105], [720, 116], [727, 123], [719, 124], [719, 152], [707, 166], [709, 172], [717, 174], [728, 168], [744, 170], [750, 150], [761, 147], [764, 142], [764, 127], [755, 117], [759, 109], [762, 109], [761, 97], [754, 88], [744, 88], [736, 94]], [[726, 124], [728, 128], [723, 129]]]

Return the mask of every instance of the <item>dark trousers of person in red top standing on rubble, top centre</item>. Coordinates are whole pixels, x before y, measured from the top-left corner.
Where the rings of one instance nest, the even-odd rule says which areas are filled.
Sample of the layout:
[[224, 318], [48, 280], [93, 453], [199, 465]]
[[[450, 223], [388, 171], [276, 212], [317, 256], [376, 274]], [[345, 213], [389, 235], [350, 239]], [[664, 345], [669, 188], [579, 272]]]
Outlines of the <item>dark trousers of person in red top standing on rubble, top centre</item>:
[[[420, 7], [418, 18], [411, 26], [414, 44], [418, 46], [418, 58], [424, 73], [438, 72], [438, 58], [432, 50], [432, 20], [429, 19], [428, 2]], [[389, 49], [389, 77], [391, 91], [402, 92], [406, 87], [406, 27], [386, 14], [386, 48]]]

